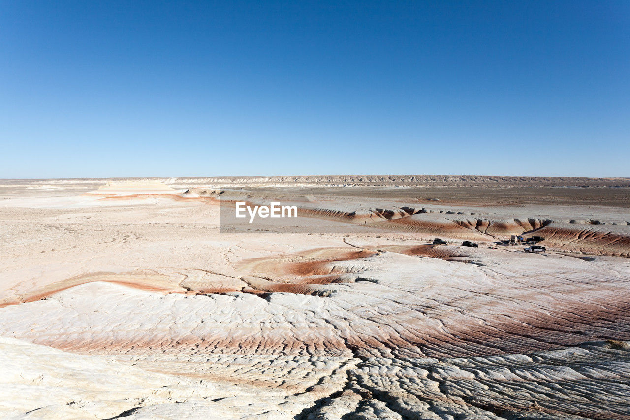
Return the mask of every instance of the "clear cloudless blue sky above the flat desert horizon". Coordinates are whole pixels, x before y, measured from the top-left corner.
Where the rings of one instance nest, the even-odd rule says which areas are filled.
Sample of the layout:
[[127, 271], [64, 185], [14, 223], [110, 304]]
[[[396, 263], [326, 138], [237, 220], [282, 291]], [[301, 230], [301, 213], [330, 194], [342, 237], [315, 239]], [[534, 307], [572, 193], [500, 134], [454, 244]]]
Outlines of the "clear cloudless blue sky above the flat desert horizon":
[[0, 0], [0, 178], [630, 176], [630, 1]]

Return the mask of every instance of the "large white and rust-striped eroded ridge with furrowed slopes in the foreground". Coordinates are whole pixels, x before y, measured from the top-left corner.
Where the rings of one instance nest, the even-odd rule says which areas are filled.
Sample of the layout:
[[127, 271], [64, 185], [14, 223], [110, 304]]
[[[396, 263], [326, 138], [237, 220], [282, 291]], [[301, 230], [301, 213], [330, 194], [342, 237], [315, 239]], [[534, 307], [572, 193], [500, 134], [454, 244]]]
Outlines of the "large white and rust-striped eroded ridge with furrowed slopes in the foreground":
[[[470, 250], [466, 257], [484, 265], [415, 252], [334, 252], [333, 261], [333, 250], [316, 248], [243, 262], [278, 284], [291, 276], [326, 275], [331, 267], [355, 276], [319, 283], [331, 290], [325, 298], [163, 296], [96, 281], [4, 308], [3, 334], [72, 353], [113, 356], [148, 371], [284, 389], [296, 401], [320, 395], [317, 407], [302, 409], [304, 416], [343, 409], [403, 418], [425, 411], [611, 415], [589, 402], [586, 389], [607, 390], [613, 387], [609, 382], [627, 380], [626, 345], [605, 344], [613, 337], [630, 339], [630, 311], [619, 295], [619, 288], [627, 288], [627, 272], [561, 255], [522, 255], [508, 270], [484, 257], [490, 250]], [[530, 259], [545, 261], [534, 270]], [[546, 266], [556, 269], [530, 278]], [[43, 315], [37, 322], [28, 315], [33, 305]], [[607, 366], [615, 355], [620, 358], [613, 373]], [[555, 388], [547, 390], [550, 384]], [[552, 399], [550, 392], [560, 396]], [[624, 418], [624, 404], [612, 395], [612, 418]]]

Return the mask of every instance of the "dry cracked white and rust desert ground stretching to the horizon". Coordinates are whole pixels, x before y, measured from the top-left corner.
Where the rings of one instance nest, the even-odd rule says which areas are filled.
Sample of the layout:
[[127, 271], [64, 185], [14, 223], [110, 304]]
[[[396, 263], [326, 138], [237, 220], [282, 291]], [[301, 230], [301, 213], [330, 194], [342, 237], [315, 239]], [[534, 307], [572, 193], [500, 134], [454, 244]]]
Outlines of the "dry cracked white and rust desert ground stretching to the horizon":
[[627, 178], [105, 183], [0, 182], [3, 418], [630, 419]]

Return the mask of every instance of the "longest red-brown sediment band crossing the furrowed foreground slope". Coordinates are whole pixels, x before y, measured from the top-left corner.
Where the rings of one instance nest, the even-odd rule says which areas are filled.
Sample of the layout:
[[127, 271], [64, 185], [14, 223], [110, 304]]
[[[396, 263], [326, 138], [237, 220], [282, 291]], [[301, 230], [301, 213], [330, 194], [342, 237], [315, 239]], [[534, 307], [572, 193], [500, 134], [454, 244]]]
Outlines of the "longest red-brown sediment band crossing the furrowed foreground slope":
[[[471, 299], [474, 300], [474, 297]], [[63, 329], [60, 329], [57, 334], [42, 335], [37, 342], [79, 353], [104, 354], [127, 353], [130, 347], [140, 353], [147, 349], [156, 353], [163, 353], [163, 350], [166, 353], [179, 352], [190, 347], [194, 351], [202, 348], [237, 354], [275, 354], [278, 351], [283, 354], [329, 354], [331, 351], [345, 353], [351, 349], [368, 353], [377, 351], [380, 354], [411, 351], [418, 356], [461, 358], [528, 353], [585, 341], [630, 339], [630, 303], [623, 296], [617, 300], [607, 298], [602, 302], [595, 300], [588, 304], [568, 298], [558, 302], [554, 308], [512, 312], [509, 318], [501, 313], [486, 314], [483, 323], [478, 319], [483, 312], [467, 311], [467, 306], [472, 307], [462, 306], [461, 315], [449, 322], [445, 330], [428, 327], [423, 322], [425, 315], [421, 313], [431, 311], [433, 315], [430, 318], [440, 318], [440, 313], [444, 313], [444, 316], [452, 313], [447, 312], [448, 306], [429, 308], [418, 305], [402, 314], [382, 313], [372, 319], [373, 326], [367, 329], [331, 320], [332, 330], [322, 327], [295, 330], [290, 336], [285, 335], [285, 329], [280, 329], [278, 333], [273, 329], [263, 329], [254, 333], [248, 330], [241, 337], [244, 332], [235, 327], [221, 334], [185, 333], [176, 337], [151, 331], [122, 330], [120, 334], [127, 337], [123, 339], [115, 338], [117, 334], [113, 338], [99, 337], [98, 330], [93, 330], [92, 333], [96, 334], [85, 341], [67, 341]], [[482, 306], [487, 310], [494, 305], [484, 302]], [[496, 312], [501, 312], [501, 308], [497, 307]], [[399, 328], [400, 325], [404, 328]], [[103, 332], [111, 334], [109, 330]]]

